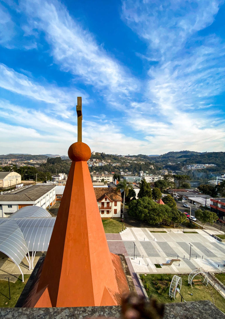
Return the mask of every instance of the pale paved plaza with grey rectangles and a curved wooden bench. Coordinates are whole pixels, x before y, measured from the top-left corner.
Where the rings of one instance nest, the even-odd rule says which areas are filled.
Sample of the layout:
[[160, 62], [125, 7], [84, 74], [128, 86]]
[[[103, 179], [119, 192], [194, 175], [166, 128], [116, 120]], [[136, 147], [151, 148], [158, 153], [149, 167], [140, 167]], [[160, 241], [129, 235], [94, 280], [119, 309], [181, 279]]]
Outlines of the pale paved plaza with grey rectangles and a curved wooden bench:
[[[225, 243], [211, 236], [219, 234], [219, 231], [196, 230], [195, 234], [185, 234], [182, 229], [165, 228], [165, 233], [151, 233], [152, 230], [127, 228], [115, 234], [114, 239], [113, 234], [110, 237], [106, 234], [109, 249], [114, 253], [123, 253], [134, 272], [188, 273], [199, 267], [206, 271], [225, 271]], [[193, 245], [191, 259], [189, 243]], [[174, 262], [171, 266], [162, 265], [171, 259], [180, 259], [180, 262]], [[156, 268], [154, 264], [157, 263], [162, 268]]]

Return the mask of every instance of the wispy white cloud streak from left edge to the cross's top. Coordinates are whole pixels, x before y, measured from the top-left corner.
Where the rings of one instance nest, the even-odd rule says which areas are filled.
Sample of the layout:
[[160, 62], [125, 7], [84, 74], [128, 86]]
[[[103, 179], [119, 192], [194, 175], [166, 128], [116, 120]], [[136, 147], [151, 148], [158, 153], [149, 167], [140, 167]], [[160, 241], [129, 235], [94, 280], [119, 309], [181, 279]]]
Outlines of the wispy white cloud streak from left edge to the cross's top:
[[72, 114], [70, 109], [76, 105], [77, 96], [82, 95], [84, 101], [87, 99], [87, 94], [74, 90], [74, 88], [72, 90], [50, 84], [40, 85], [32, 78], [2, 63], [0, 63], [0, 87], [33, 100], [46, 102], [51, 105], [49, 106], [50, 111], [58, 111], [62, 117], [69, 117]]

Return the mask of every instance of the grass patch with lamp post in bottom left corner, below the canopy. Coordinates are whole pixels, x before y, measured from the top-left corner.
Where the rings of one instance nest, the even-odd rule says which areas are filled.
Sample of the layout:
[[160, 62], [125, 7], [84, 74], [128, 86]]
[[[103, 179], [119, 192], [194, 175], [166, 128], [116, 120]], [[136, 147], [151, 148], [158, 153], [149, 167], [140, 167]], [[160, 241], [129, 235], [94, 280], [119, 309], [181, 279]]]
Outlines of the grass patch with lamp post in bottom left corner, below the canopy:
[[[22, 276], [20, 275], [15, 283], [10, 282], [9, 284], [8, 280], [0, 280], [0, 307], [15, 307], [29, 277], [30, 275], [24, 275], [24, 282], [22, 282]], [[11, 300], [9, 300], [9, 285]], [[8, 304], [6, 304], [7, 302]]]

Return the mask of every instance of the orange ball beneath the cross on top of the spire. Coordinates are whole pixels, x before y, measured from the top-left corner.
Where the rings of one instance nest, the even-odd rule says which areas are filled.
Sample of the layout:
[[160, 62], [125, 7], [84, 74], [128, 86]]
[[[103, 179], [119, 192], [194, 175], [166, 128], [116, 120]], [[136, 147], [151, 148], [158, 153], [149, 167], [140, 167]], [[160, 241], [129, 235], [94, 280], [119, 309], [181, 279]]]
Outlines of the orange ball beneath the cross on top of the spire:
[[70, 145], [68, 156], [74, 162], [85, 161], [91, 157], [90, 147], [83, 142], [76, 142]]

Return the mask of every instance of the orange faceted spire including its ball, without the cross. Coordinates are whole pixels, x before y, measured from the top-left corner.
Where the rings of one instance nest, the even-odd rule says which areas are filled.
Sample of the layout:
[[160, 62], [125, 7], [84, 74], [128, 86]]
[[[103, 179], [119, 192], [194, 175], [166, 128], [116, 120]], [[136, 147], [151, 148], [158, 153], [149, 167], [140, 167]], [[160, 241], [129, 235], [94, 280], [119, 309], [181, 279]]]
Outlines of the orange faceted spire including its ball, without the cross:
[[118, 305], [129, 288], [120, 257], [109, 252], [87, 165], [91, 151], [77, 142], [68, 155], [71, 168], [29, 307]]

